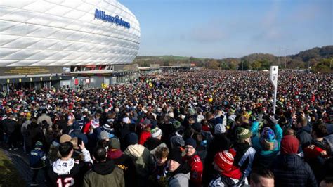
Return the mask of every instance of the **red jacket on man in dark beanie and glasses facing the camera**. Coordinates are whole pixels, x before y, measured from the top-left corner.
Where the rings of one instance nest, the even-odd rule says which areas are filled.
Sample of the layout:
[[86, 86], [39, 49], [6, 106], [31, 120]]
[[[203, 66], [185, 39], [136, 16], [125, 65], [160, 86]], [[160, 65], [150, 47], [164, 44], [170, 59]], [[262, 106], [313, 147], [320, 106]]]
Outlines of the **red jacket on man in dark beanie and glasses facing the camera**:
[[188, 165], [191, 168], [191, 176], [190, 183], [192, 186], [202, 186], [202, 171], [204, 170], [204, 166], [202, 165], [202, 161], [198, 155], [194, 155], [192, 157], [183, 157], [185, 162], [188, 162]]

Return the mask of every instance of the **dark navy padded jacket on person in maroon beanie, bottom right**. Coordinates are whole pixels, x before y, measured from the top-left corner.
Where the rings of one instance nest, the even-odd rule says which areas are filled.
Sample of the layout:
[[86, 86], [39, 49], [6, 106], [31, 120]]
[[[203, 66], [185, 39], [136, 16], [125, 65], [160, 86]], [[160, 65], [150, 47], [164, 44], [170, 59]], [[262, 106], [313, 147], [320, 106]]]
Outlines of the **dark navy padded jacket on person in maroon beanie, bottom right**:
[[311, 167], [299, 155], [278, 155], [273, 162], [275, 186], [318, 186]]

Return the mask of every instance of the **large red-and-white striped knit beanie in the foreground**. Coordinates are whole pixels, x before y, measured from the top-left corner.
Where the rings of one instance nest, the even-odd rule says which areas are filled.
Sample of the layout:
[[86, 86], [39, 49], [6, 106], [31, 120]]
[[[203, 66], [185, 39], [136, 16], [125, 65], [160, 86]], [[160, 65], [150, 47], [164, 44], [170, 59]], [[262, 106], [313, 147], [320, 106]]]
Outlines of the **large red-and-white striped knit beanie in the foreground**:
[[235, 150], [223, 150], [222, 152], [216, 153], [214, 162], [223, 171], [230, 171], [233, 168], [233, 160], [236, 155]]

